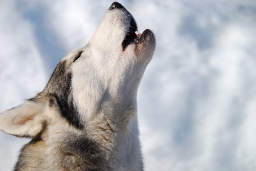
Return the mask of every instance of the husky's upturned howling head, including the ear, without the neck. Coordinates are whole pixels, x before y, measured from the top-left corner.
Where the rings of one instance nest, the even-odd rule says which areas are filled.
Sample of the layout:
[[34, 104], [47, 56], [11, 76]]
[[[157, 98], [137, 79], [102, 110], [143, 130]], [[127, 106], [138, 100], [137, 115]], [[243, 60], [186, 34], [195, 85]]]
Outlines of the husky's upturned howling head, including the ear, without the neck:
[[83, 128], [102, 108], [136, 108], [138, 86], [154, 49], [152, 31], [140, 34], [133, 16], [114, 2], [89, 43], [60, 61], [41, 93], [0, 115], [0, 129], [35, 137], [56, 121]]

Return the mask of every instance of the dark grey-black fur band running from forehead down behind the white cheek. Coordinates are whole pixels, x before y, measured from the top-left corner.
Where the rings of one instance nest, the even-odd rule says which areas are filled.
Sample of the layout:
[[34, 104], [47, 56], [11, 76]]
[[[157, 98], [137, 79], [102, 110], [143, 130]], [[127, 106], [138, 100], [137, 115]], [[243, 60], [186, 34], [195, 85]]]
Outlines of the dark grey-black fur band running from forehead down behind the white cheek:
[[54, 70], [45, 90], [55, 96], [62, 116], [76, 128], [83, 128], [78, 111], [74, 106], [71, 81], [72, 73], [67, 70], [66, 61], [61, 61]]

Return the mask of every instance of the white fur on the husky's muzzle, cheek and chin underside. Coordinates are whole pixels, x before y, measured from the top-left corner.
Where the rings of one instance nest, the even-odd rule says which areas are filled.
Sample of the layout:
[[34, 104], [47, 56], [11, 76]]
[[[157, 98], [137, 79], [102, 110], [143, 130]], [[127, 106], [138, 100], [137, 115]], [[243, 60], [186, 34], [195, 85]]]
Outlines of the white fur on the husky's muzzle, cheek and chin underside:
[[99, 109], [106, 91], [112, 100], [125, 99], [125, 106], [136, 106], [138, 86], [152, 55], [143, 52], [136, 56], [135, 45], [129, 45], [123, 52], [121, 43], [130, 20], [128, 12], [108, 10], [83, 48], [82, 57], [72, 65], [74, 98], [84, 122]]

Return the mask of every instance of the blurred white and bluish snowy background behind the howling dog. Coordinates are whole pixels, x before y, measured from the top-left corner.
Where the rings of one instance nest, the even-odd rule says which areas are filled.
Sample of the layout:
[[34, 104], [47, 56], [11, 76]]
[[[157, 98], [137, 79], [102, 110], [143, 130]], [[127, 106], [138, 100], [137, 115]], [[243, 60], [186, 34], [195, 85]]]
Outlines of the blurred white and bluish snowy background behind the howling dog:
[[[157, 47], [138, 93], [146, 171], [256, 170], [256, 1], [120, 0]], [[109, 0], [0, 0], [0, 113], [42, 91]], [[29, 139], [0, 133], [0, 170]]]

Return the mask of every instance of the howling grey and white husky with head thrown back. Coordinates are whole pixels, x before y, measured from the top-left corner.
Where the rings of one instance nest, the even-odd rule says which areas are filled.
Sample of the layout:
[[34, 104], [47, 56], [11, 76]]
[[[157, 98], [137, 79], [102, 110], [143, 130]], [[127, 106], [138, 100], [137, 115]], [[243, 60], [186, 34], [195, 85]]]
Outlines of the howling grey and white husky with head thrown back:
[[41, 93], [0, 115], [0, 130], [32, 138], [15, 170], [143, 170], [136, 95], [154, 50], [152, 31], [114, 2]]

